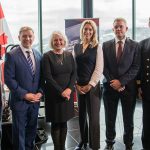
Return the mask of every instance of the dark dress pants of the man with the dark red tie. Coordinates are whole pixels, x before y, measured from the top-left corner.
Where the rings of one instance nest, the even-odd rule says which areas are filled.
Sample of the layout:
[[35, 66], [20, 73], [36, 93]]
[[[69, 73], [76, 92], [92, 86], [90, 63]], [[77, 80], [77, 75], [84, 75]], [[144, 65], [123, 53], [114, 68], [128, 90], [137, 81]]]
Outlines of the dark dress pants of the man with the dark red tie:
[[116, 130], [116, 116], [118, 109], [118, 102], [121, 100], [123, 123], [124, 123], [124, 135], [123, 141], [126, 146], [133, 145], [133, 117], [136, 104], [136, 94], [128, 89], [123, 92], [117, 92], [108, 84], [104, 84], [104, 108], [105, 108], [105, 122], [106, 122], [106, 143], [113, 145], [115, 143]]

